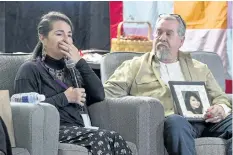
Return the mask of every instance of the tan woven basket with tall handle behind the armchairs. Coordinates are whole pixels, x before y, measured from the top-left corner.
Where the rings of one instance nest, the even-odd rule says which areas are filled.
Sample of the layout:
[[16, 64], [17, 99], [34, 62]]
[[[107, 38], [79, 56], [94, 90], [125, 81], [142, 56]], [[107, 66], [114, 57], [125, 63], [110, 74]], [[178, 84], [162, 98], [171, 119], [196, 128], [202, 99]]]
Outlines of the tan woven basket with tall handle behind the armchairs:
[[[123, 23], [137, 23], [148, 25], [148, 36], [147, 40], [127, 40], [123, 39], [121, 35], [121, 27]], [[122, 21], [117, 27], [117, 38], [111, 40], [111, 52], [150, 52], [152, 49], [151, 40], [151, 24], [149, 22], [129, 22]]]

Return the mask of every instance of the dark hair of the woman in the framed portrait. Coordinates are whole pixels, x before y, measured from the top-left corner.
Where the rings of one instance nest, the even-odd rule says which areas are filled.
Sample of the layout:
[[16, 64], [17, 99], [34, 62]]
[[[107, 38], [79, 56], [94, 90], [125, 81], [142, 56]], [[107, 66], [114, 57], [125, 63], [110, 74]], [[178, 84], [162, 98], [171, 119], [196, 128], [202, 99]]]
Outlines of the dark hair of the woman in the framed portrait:
[[[190, 98], [191, 98], [191, 96], [195, 97], [200, 102], [199, 108], [197, 108], [197, 109], [193, 109], [192, 108], [192, 106], [190, 104]], [[194, 114], [202, 114], [203, 105], [201, 103], [200, 97], [196, 93], [194, 93], [192, 91], [187, 91], [185, 93], [185, 105], [186, 105], [186, 108], [187, 108], [188, 111], [191, 111]]]

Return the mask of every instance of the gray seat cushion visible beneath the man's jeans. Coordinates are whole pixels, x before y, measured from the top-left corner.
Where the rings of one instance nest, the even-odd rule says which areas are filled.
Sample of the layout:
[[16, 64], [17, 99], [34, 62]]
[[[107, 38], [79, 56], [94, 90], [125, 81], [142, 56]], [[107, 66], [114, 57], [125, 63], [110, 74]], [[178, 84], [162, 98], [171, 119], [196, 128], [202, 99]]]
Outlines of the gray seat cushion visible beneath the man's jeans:
[[197, 138], [195, 139], [198, 155], [224, 155], [226, 154], [226, 140], [221, 138]]

